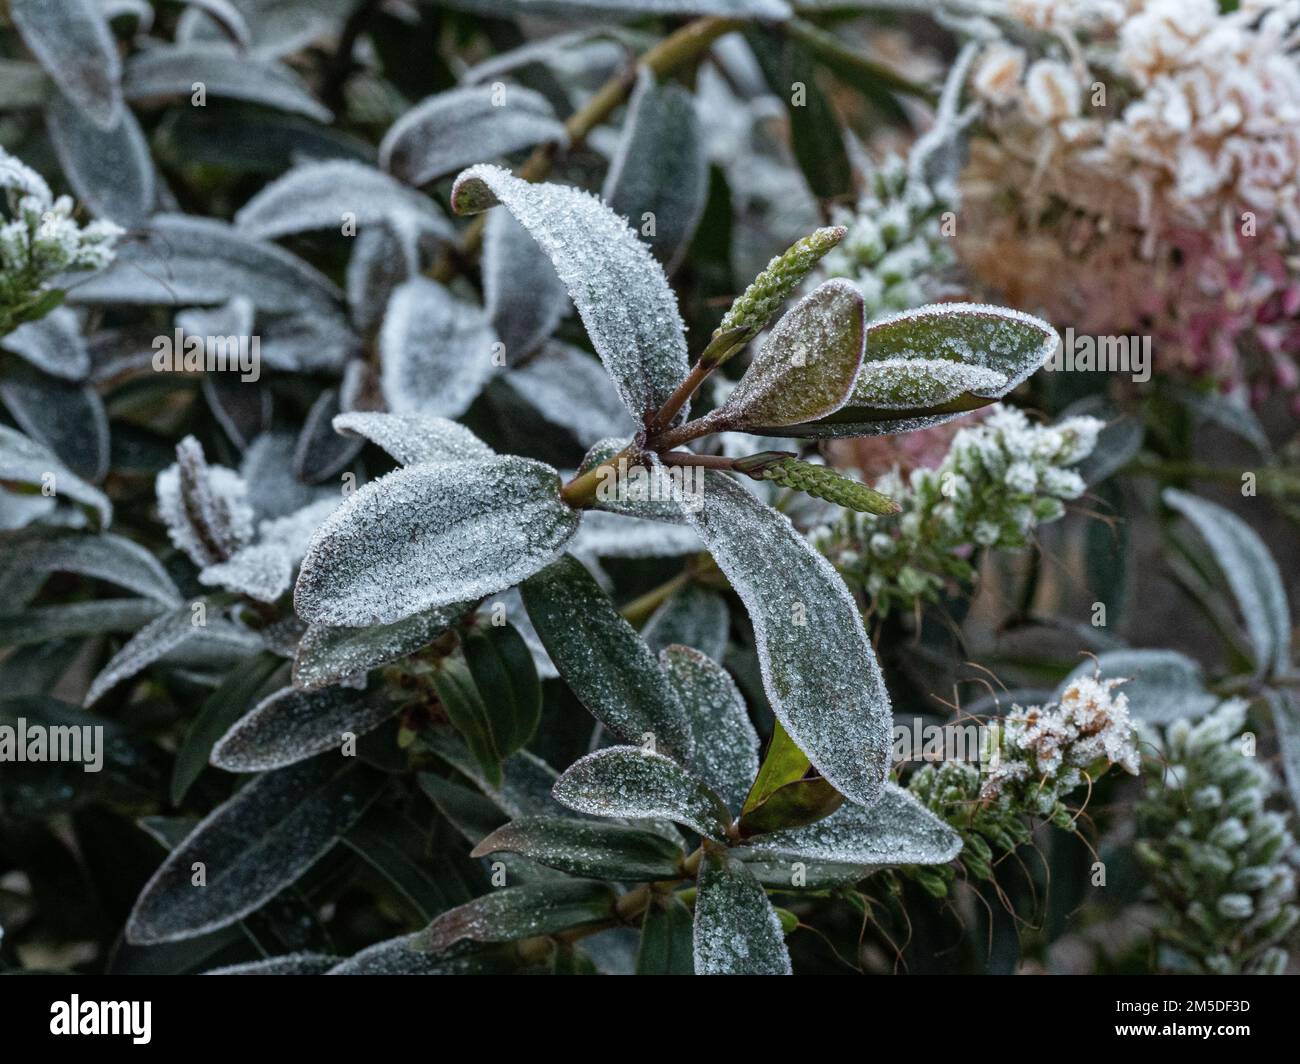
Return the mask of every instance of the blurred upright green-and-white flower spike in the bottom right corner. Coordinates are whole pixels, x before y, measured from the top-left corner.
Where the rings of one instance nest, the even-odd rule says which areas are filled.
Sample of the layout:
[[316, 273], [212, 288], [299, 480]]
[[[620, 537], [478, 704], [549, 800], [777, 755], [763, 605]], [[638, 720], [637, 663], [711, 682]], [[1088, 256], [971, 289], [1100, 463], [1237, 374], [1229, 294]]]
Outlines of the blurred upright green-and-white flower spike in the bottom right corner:
[[1138, 806], [1138, 856], [1167, 912], [1160, 965], [1170, 972], [1277, 973], [1277, 943], [1300, 920], [1296, 847], [1283, 813], [1265, 808], [1274, 771], [1243, 735], [1247, 704], [1176, 721], [1154, 747]]

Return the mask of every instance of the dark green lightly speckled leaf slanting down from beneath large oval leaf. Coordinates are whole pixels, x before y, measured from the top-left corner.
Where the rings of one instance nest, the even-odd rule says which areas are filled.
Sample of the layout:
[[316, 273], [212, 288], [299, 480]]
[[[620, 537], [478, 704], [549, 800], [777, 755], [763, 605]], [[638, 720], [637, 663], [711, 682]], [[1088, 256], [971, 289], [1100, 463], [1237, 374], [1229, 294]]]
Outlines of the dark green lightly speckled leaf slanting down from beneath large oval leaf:
[[686, 714], [650, 648], [581, 562], [563, 557], [524, 581], [546, 652], [588, 712], [628, 743], [692, 751]]

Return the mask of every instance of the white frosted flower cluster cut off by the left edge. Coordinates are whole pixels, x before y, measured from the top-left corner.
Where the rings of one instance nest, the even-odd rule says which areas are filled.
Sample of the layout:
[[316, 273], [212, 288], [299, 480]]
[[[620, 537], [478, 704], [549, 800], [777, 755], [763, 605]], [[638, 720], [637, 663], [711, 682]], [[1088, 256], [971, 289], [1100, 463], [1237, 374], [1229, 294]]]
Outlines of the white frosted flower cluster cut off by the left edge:
[[107, 267], [122, 229], [110, 221], [78, 225], [72, 216], [72, 199], [56, 199], [40, 174], [4, 148], [0, 148], [0, 191], [8, 208], [8, 220], [0, 222], [3, 333], [26, 320], [56, 274]]

